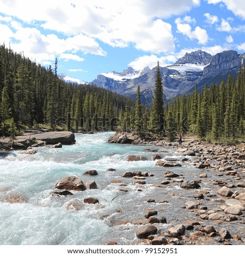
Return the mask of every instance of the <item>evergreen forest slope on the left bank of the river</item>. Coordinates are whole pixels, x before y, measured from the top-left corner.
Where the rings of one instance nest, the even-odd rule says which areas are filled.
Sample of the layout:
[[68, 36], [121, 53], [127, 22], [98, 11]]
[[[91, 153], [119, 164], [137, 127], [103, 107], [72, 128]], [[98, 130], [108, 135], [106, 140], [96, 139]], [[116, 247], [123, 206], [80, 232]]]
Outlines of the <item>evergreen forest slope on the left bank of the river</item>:
[[132, 111], [135, 101], [109, 90], [66, 83], [54, 69], [32, 62], [0, 46], [0, 135], [21, 127], [74, 131], [115, 130], [120, 109]]

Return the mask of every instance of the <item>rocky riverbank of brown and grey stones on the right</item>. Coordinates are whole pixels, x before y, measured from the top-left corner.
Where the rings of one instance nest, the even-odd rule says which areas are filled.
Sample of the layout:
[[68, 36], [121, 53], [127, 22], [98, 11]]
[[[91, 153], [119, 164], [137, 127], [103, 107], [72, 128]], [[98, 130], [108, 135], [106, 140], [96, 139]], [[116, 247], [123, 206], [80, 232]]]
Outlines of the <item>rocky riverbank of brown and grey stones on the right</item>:
[[[127, 139], [130, 141], [128, 142]], [[166, 222], [166, 218], [162, 215], [158, 217], [159, 207], [156, 205], [161, 202], [156, 198], [148, 199], [147, 202], [152, 205], [146, 209], [144, 216], [147, 220], [140, 222], [142, 225], [136, 230], [136, 236], [142, 239], [141, 243], [152, 245], [244, 244], [245, 145], [243, 143], [221, 145], [186, 137], [183, 138], [183, 148], [179, 148], [177, 142], [168, 143], [152, 138], [148, 140], [136, 134], [123, 132], [116, 133], [109, 139], [109, 143], [155, 145], [157, 150], [152, 150], [155, 152], [152, 159], [157, 160], [157, 166], [168, 169], [164, 174], [165, 180], [156, 186], [169, 190], [179, 183], [179, 186], [185, 190], [181, 195], [169, 194], [165, 202], [171, 202], [175, 196], [186, 198], [183, 211], [186, 211], [187, 220], [164, 231], [158, 223], [163, 223], [162, 218]], [[183, 164], [187, 163], [191, 157], [199, 173], [198, 179], [188, 177], [186, 180], [187, 177], [184, 174], [172, 172], [171, 167], [181, 167], [182, 164], [176, 163], [179, 160], [174, 157], [164, 157], [162, 147], [175, 149], [183, 156]], [[137, 156], [133, 159], [137, 160]], [[146, 184], [145, 174], [127, 172], [122, 176], [134, 177], [139, 180], [138, 182], [144, 182], [141, 184]], [[213, 186], [217, 187], [216, 190], [213, 190]], [[229, 231], [231, 225], [243, 228], [231, 234]]]

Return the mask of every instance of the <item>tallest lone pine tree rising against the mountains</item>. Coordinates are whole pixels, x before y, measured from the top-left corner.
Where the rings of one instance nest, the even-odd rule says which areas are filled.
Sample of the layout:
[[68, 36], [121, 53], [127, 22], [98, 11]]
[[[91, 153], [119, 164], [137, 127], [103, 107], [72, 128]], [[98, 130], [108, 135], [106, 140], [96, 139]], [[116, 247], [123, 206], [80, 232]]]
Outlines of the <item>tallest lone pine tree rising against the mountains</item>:
[[152, 102], [152, 129], [155, 132], [164, 131], [164, 109], [163, 109], [163, 86], [159, 62], [156, 67], [156, 78], [154, 88], [154, 100]]

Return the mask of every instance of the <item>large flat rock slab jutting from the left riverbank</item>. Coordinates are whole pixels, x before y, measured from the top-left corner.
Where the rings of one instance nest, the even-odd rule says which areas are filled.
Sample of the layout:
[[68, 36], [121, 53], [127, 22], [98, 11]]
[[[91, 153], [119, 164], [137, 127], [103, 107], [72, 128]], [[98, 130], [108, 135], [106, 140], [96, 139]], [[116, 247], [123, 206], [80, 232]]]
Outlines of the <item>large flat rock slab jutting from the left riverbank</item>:
[[47, 144], [74, 144], [75, 143], [75, 135], [72, 132], [44, 132], [44, 133], [37, 133], [30, 136], [17, 136], [17, 141], [21, 141], [21, 139], [33, 139], [35, 138], [38, 141], [44, 141]]

